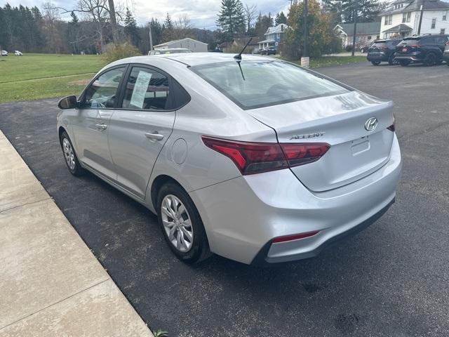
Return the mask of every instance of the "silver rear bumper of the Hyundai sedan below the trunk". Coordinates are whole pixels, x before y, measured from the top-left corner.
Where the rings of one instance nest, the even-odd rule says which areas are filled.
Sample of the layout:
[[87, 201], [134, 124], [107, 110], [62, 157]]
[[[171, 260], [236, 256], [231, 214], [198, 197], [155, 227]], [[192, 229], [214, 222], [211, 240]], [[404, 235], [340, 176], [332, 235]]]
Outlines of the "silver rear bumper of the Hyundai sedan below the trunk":
[[[190, 192], [210, 249], [242, 263], [279, 263], [316, 256], [363, 229], [396, 196], [401, 152], [394, 137], [390, 159], [374, 173], [326, 192], [311, 192], [289, 169], [241, 176]], [[318, 230], [312, 237], [273, 243], [275, 237]]]

